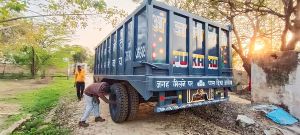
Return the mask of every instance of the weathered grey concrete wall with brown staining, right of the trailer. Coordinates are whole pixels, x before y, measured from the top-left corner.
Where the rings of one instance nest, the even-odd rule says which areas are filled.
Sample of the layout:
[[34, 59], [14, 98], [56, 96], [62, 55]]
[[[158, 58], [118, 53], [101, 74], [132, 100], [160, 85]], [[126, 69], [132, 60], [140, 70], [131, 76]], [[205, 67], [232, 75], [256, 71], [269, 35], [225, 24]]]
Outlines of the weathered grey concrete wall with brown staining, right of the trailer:
[[252, 100], [286, 107], [300, 119], [300, 55], [279, 52], [254, 58]]

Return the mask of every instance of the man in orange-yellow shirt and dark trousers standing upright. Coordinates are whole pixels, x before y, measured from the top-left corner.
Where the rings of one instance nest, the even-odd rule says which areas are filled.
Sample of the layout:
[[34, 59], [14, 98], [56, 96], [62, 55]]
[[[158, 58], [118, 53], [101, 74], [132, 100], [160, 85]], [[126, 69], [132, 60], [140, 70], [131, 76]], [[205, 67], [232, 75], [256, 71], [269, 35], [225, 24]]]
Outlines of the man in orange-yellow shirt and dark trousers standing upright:
[[78, 101], [80, 101], [85, 88], [85, 71], [80, 65], [77, 66], [77, 71], [75, 72], [75, 85], [77, 90], [77, 98]]

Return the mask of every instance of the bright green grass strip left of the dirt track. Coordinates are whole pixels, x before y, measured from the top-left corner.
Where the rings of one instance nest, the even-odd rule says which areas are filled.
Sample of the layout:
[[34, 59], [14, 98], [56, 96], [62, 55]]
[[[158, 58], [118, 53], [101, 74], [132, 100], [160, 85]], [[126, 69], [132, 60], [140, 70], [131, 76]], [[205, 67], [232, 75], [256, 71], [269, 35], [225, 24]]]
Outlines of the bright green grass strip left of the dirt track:
[[55, 78], [55, 80], [46, 87], [34, 91], [28, 91], [17, 95], [9, 102], [19, 103], [24, 113], [32, 114], [32, 119], [25, 122], [13, 134], [17, 135], [35, 135], [35, 134], [68, 134], [69, 130], [61, 128], [60, 125], [45, 123], [44, 119], [47, 113], [57, 105], [60, 98], [70, 95], [74, 88], [71, 80]]

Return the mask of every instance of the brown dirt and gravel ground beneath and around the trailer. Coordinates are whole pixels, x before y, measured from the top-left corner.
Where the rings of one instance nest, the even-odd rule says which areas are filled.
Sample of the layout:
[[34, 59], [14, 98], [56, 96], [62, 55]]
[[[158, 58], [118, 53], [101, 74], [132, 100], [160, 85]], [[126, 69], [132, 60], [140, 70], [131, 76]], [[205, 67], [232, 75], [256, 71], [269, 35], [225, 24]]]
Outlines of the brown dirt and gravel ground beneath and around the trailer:
[[[176, 114], [154, 113], [155, 103], [143, 103], [140, 104], [137, 119], [121, 124], [111, 120], [108, 105], [101, 102], [101, 116], [106, 121], [96, 123], [91, 115], [87, 121], [90, 126], [80, 128], [78, 121], [84, 102], [74, 99], [63, 100], [55, 113], [55, 119], [70, 128], [74, 135], [261, 135], [264, 130], [278, 127], [261, 113], [251, 110], [251, 101], [230, 93], [227, 103], [187, 109]], [[255, 124], [245, 128], [237, 125], [239, 114], [254, 119]], [[274, 134], [283, 133], [274, 131]]]

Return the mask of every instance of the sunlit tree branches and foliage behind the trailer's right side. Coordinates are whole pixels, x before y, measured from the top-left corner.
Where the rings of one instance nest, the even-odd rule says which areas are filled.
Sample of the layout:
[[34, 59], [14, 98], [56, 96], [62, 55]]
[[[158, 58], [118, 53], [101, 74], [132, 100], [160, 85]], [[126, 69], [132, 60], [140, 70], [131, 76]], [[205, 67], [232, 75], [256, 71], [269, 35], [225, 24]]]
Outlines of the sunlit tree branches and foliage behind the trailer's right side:
[[[166, 3], [232, 26], [232, 48], [251, 75], [251, 59], [276, 48], [294, 50], [299, 41], [299, 0], [165, 0]], [[293, 33], [287, 43], [287, 31]], [[280, 42], [281, 41], [281, 42]], [[257, 51], [258, 42], [264, 49]]]

